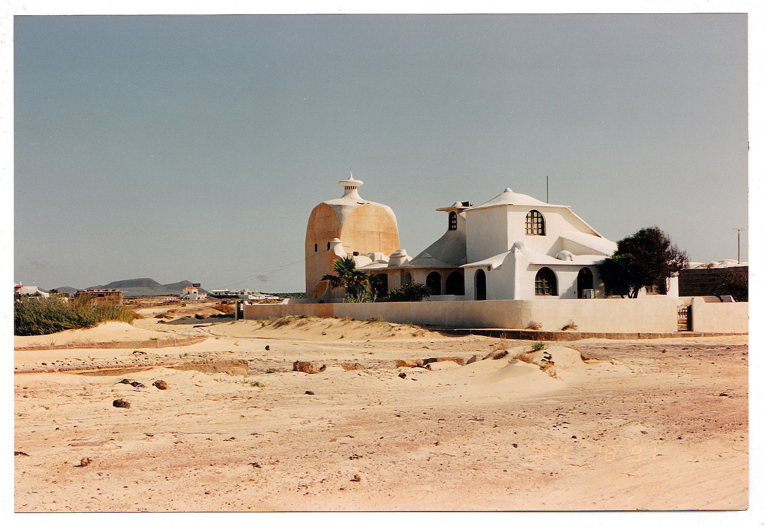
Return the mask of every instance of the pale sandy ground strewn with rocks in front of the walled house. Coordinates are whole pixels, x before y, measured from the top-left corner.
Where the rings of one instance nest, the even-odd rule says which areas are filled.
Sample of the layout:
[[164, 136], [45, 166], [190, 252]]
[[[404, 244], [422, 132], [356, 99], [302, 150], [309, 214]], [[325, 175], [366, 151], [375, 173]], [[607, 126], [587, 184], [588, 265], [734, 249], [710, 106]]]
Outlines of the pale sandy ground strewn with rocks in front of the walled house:
[[[548, 344], [555, 366], [543, 371], [511, 360], [531, 342], [384, 322], [134, 324], [56, 339], [73, 346], [125, 334], [209, 339], [146, 354], [131, 347], [16, 352], [16, 369], [29, 373], [15, 375], [15, 449], [28, 455], [15, 456], [15, 510], [748, 504], [745, 336]], [[465, 366], [395, 367], [398, 359], [505, 349], [502, 359]], [[200, 360], [246, 360], [249, 373], [165, 367]], [[328, 367], [291, 372], [294, 360]], [[349, 361], [364, 368], [331, 366]], [[121, 370], [96, 370], [103, 367]], [[123, 378], [145, 388], [118, 383]], [[169, 388], [151, 386], [158, 379]], [[116, 408], [115, 399], [131, 407]], [[82, 458], [92, 461], [80, 466]]]

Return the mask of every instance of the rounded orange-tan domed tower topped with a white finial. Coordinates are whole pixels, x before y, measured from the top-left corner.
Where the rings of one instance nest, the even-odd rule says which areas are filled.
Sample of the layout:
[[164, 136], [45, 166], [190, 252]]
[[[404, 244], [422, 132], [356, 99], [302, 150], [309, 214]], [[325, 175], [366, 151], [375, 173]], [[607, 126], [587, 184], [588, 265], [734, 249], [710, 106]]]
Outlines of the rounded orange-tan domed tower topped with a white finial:
[[[387, 267], [399, 252], [396, 214], [384, 204], [364, 200], [353, 178], [338, 182], [343, 196], [321, 202], [311, 211], [305, 231], [305, 295], [330, 300], [342, 298], [342, 289], [331, 290], [321, 277], [334, 273], [333, 263], [353, 256], [356, 266], [367, 270]], [[399, 259], [400, 261], [401, 259]]]

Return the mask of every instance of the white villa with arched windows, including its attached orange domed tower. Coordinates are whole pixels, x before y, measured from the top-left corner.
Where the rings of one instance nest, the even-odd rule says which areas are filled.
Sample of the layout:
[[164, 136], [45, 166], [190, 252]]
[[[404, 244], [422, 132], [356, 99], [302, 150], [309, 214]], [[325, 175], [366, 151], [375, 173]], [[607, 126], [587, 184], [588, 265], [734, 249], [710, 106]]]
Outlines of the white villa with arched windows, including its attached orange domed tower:
[[[343, 200], [345, 196], [328, 200], [311, 213], [306, 234], [308, 298], [342, 298], [342, 292], [327, 288], [320, 277], [332, 272], [331, 262], [349, 255], [358, 269], [379, 277], [381, 295], [411, 282], [429, 285], [435, 292], [432, 301], [605, 295], [597, 265], [613, 254], [617, 245], [567, 205], [546, 204], [509, 188], [483, 204], [455, 202], [438, 209], [448, 213], [444, 235], [412, 258], [405, 249], [389, 254], [380, 250], [380, 241], [388, 245], [398, 242], [396, 219], [389, 207], [363, 200], [357, 192], [361, 184], [353, 176], [341, 181], [345, 194], [353, 193], [353, 200]], [[349, 187], [353, 188], [349, 191]], [[335, 202], [341, 201], [347, 210], [327, 207], [337, 208]], [[365, 210], [369, 210], [369, 217]], [[391, 217], [387, 223], [380, 220], [383, 213]], [[349, 219], [353, 219], [351, 227], [345, 225]], [[349, 233], [349, 240], [353, 240], [341, 240], [338, 235], [342, 233]], [[332, 238], [320, 240], [321, 235]], [[325, 243], [326, 250], [322, 248]], [[374, 247], [367, 249], [367, 245]], [[677, 279], [660, 289], [660, 293], [676, 297]]]

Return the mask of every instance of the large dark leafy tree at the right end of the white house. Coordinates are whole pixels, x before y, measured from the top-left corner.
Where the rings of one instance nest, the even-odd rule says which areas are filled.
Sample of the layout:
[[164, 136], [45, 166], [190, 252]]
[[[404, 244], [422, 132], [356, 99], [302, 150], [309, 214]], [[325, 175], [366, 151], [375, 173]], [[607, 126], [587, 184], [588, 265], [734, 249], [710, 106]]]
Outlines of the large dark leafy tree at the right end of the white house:
[[601, 277], [610, 295], [636, 298], [640, 288], [662, 284], [686, 267], [685, 251], [653, 226], [617, 242], [614, 255], [601, 264]]

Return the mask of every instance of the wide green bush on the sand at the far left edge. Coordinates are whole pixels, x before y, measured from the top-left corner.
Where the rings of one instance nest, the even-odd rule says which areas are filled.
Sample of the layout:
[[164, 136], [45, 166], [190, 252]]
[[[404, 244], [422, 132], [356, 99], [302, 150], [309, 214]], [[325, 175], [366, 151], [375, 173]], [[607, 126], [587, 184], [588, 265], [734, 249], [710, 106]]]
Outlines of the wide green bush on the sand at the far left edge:
[[75, 328], [93, 328], [104, 321], [131, 323], [129, 308], [104, 303], [63, 301], [61, 298], [24, 298], [14, 303], [14, 334], [44, 335]]

